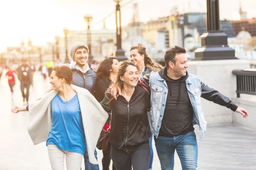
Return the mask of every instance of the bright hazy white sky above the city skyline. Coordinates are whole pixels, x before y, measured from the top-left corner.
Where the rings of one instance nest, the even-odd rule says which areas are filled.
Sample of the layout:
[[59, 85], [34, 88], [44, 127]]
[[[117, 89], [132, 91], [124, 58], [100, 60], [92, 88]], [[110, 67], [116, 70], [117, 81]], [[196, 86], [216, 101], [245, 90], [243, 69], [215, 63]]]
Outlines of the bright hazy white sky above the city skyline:
[[[123, 5], [131, 0], [123, 0]], [[239, 0], [219, 0], [220, 18], [232, 20], [239, 9]], [[180, 12], [206, 12], [206, 0], [134, 0], [138, 3], [140, 21], [147, 22], [171, 14], [178, 6]], [[131, 21], [133, 6], [122, 7], [122, 26]], [[189, 3], [190, 2], [190, 3]], [[63, 36], [63, 28], [86, 29], [84, 14], [93, 16], [92, 25], [115, 10], [113, 0], [5, 0], [0, 2], [0, 51], [7, 46], [20, 45], [22, 39], [32, 39], [33, 45], [54, 41], [55, 35]], [[247, 17], [256, 17], [256, 0], [242, 0]], [[115, 28], [115, 15], [106, 20], [109, 29]], [[102, 28], [102, 23], [92, 29]]]

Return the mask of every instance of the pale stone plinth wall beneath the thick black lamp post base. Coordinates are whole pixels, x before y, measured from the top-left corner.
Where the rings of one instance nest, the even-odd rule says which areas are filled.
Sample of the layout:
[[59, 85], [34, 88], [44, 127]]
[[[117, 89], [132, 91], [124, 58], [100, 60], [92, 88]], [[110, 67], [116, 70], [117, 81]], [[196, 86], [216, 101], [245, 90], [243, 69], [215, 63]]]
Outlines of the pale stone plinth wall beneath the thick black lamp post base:
[[[232, 99], [236, 97], [236, 76], [232, 74], [232, 71], [244, 68], [249, 68], [249, 62], [236, 59], [189, 61], [189, 68], [187, 70], [190, 74], [199, 76], [201, 81], [209, 87], [218, 90], [221, 94]], [[201, 104], [208, 124], [233, 122], [233, 111], [230, 109], [203, 98], [201, 98]]]

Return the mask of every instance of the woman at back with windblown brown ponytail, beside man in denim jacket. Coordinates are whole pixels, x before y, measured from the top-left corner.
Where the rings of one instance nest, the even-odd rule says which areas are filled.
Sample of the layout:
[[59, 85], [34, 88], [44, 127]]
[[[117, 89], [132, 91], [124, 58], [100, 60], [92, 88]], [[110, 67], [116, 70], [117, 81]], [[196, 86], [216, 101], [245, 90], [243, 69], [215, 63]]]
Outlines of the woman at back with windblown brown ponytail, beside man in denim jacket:
[[[148, 54], [146, 53], [146, 48], [143, 44], [138, 44], [136, 46], [132, 46], [130, 49], [130, 57], [131, 62], [133, 62], [137, 70], [140, 74], [140, 79], [142, 79], [143, 76], [146, 74], [150, 74], [151, 71], [159, 71], [163, 68], [162, 65], [157, 64], [153, 59], [148, 57]], [[151, 150], [151, 158], [150, 158], [150, 164], [149, 164], [149, 170], [152, 170], [152, 164], [153, 164], [153, 158], [154, 158], [154, 152], [152, 148], [152, 139], [153, 134], [151, 134], [151, 137], [149, 139], [149, 145]]]

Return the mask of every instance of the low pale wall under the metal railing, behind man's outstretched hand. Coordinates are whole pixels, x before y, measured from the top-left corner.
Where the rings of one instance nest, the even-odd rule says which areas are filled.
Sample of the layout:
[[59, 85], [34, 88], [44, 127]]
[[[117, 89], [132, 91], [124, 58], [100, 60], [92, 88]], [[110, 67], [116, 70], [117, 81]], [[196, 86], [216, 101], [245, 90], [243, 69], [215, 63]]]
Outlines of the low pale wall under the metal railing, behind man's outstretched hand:
[[256, 129], [256, 96], [241, 94], [240, 98], [233, 98], [240, 107], [248, 111], [248, 118], [244, 119], [239, 113], [233, 113], [233, 123]]

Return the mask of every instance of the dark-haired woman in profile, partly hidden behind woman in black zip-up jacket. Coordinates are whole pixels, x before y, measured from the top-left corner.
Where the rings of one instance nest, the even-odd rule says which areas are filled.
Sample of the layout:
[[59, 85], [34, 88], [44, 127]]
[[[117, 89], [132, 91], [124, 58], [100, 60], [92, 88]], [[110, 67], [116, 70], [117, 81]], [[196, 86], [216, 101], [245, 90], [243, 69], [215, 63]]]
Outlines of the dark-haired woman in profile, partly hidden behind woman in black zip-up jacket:
[[[97, 70], [97, 80], [95, 84], [95, 98], [101, 102], [104, 99], [105, 92], [109, 88], [112, 82], [116, 79], [116, 73], [118, 70], [119, 64], [118, 60], [115, 57], [110, 57], [103, 60], [99, 64], [99, 68]], [[104, 125], [104, 129], [109, 129], [111, 113], [109, 113], [109, 118]], [[103, 170], [109, 170], [109, 165], [111, 161], [110, 154], [111, 144], [108, 143], [108, 147], [106, 150], [102, 150], [103, 158], [102, 158], [102, 167]], [[116, 170], [114, 164], [112, 166], [112, 170]]]

